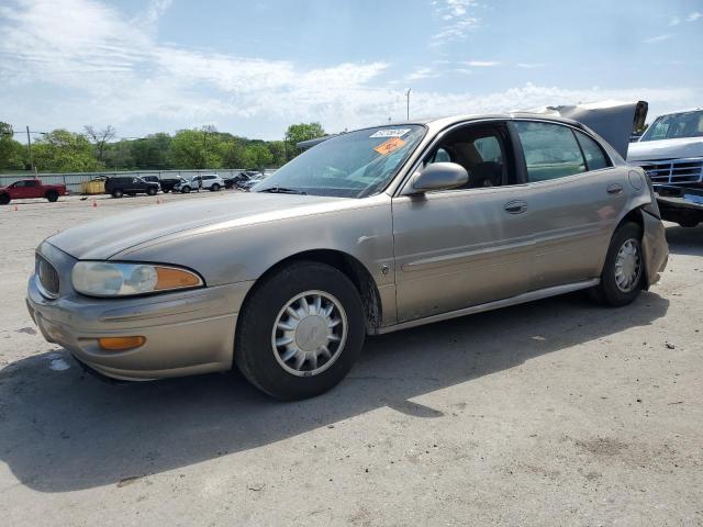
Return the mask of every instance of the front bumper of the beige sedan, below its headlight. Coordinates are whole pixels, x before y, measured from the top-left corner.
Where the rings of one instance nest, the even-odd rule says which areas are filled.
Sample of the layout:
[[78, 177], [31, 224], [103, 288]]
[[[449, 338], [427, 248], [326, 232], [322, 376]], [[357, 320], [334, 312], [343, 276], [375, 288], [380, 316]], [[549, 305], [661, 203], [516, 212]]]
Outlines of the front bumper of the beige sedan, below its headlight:
[[[253, 282], [238, 282], [132, 299], [89, 299], [76, 293], [51, 300], [38, 278], [26, 304], [44, 338], [68, 349], [96, 371], [122, 380], [181, 377], [232, 368], [237, 313]], [[144, 336], [126, 351], [105, 351], [100, 337]]]

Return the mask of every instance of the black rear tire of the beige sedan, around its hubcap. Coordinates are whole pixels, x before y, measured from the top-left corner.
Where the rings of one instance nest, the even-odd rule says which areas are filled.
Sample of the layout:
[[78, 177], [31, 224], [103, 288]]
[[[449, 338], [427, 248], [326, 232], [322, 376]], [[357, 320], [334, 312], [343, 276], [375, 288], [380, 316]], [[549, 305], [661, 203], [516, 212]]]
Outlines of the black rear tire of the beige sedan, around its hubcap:
[[[601, 273], [601, 283], [593, 289], [594, 296], [600, 303], [620, 307], [632, 304], [639, 296], [645, 276], [641, 234], [641, 227], [631, 222], [621, 225], [613, 234]], [[636, 250], [634, 262], [629, 258], [629, 249]], [[625, 268], [624, 273], [621, 273], [618, 278], [617, 264], [623, 262], [618, 258], [621, 251], [624, 251], [622, 255], [625, 259]], [[631, 265], [636, 267], [632, 273], [629, 272]], [[623, 277], [632, 277], [632, 279], [625, 280]], [[623, 282], [621, 283], [621, 281]]]

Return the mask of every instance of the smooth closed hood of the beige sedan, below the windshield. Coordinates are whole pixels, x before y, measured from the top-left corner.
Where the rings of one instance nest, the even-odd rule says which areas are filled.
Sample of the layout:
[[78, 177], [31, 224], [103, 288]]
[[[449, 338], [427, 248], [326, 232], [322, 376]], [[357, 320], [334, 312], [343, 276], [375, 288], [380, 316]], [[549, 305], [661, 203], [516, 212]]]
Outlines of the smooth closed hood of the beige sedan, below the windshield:
[[145, 242], [211, 227], [246, 225], [334, 209], [349, 198], [241, 193], [154, 204], [79, 225], [47, 242], [78, 259], [108, 259]]

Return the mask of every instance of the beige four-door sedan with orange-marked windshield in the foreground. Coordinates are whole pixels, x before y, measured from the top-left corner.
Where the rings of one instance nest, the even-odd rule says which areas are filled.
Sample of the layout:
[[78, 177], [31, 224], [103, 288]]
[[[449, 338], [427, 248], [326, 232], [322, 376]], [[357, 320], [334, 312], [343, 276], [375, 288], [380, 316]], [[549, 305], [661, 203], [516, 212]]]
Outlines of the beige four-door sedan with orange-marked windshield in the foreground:
[[578, 290], [624, 306], [667, 258], [644, 171], [590, 128], [465, 115], [345, 133], [254, 192], [54, 235], [27, 305], [108, 377], [236, 365], [295, 400], [337, 384], [367, 335]]

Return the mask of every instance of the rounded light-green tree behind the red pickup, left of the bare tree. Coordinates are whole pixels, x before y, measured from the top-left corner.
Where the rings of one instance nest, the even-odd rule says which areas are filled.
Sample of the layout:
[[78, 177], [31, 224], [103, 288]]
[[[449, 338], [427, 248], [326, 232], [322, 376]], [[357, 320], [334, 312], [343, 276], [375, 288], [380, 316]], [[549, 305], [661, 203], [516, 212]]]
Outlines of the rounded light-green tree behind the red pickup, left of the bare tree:
[[55, 130], [38, 139], [33, 148], [34, 165], [48, 172], [90, 172], [104, 165], [93, 157], [88, 137], [66, 130]]

